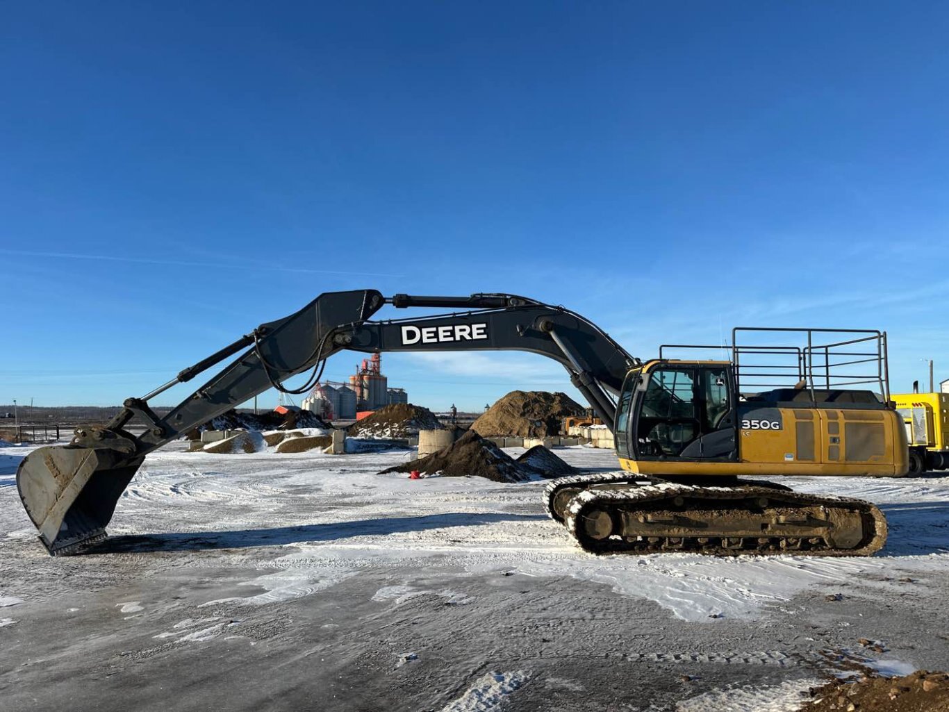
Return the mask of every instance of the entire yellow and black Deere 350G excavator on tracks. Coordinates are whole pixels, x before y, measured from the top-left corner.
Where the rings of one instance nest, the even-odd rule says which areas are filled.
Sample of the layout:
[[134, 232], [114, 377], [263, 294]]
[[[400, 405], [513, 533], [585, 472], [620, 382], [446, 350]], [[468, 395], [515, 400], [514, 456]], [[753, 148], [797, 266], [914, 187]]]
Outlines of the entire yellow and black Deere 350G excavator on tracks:
[[[386, 305], [452, 311], [370, 319]], [[762, 344], [763, 335], [782, 343]], [[788, 337], [799, 344], [788, 346]], [[727, 357], [669, 356], [709, 348]], [[306, 392], [326, 359], [343, 349], [521, 350], [563, 365], [611, 427], [623, 468], [553, 480], [547, 488], [549, 515], [590, 553], [874, 553], [886, 523], [871, 503], [795, 493], [760, 478], [907, 472], [880, 331], [736, 328], [729, 347], [662, 347], [658, 359], [643, 363], [579, 314], [521, 296], [335, 291], [128, 399], [104, 426], [80, 427], [69, 444], [30, 453], [17, 487], [47, 551], [81, 553], [105, 538], [148, 453], [270, 387]], [[168, 388], [234, 355], [163, 417], [150, 407]], [[306, 384], [284, 387], [310, 368]], [[134, 435], [131, 424], [144, 432]]]

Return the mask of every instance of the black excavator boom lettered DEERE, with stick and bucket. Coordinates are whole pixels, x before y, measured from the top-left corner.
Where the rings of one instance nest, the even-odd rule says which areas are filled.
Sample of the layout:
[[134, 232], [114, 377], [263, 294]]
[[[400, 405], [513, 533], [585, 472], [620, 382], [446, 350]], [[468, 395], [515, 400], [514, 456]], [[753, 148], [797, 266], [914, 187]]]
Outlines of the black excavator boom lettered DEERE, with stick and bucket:
[[[419, 318], [371, 321], [380, 309], [453, 309]], [[283, 319], [263, 324], [141, 398], [130, 398], [104, 426], [81, 427], [65, 446], [39, 448], [17, 470], [27, 513], [52, 554], [77, 553], [104, 538], [122, 492], [149, 452], [176, 440], [234, 405], [314, 369], [312, 387], [326, 359], [341, 350], [468, 351], [537, 353], [567, 369], [572, 384], [603, 422], [612, 427], [614, 396], [639, 361], [584, 317], [512, 294], [470, 297], [384, 297], [376, 290], [321, 294]], [[164, 417], [148, 402], [173, 385], [239, 354]], [[290, 391], [294, 392], [294, 391]], [[144, 426], [139, 436], [126, 428]]]

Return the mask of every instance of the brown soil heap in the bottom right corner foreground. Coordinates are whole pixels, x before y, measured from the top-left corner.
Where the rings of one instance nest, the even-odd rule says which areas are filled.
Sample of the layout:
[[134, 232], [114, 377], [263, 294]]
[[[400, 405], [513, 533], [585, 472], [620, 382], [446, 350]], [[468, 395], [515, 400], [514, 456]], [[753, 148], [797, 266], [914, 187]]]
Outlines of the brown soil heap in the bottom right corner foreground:
[[811, 695], [801, 712], [949, 712], [949, 673], [917, 670], [902, 678], [835, 680]]

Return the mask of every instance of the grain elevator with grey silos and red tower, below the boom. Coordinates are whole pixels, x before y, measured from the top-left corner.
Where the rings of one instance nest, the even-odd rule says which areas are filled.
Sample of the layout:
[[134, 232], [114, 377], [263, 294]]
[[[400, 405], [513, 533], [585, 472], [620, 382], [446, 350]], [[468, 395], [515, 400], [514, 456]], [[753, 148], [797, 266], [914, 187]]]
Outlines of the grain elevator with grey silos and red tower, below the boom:
[[382, 375], [380, 355], [374, 353], [356, 366], [349, 383], [318, 383], [300, 405], [332, 421], [353, 419], [357, 412], [378, 410], [389, 403], [409, 402], [404, 388], [390, 388], [388, 383], [388, 379]]

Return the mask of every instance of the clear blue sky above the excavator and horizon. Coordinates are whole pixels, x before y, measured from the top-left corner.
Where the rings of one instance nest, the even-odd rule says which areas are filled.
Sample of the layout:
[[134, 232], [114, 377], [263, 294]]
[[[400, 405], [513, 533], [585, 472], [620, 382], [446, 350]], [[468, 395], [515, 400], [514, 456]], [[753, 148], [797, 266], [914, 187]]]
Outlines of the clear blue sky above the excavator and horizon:
[[[881, 328], [894, 390], [949, 378], [947, 36], [935, 2], [8, 5], [0, 403], [120, 403], [363, 288], [526, 294], [642, 357]], [[383, 365], [437, 409], [568, 390]]]

